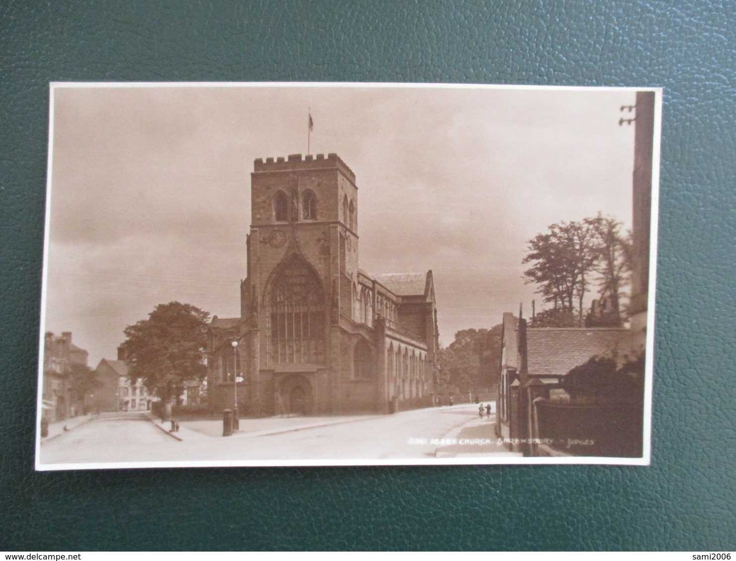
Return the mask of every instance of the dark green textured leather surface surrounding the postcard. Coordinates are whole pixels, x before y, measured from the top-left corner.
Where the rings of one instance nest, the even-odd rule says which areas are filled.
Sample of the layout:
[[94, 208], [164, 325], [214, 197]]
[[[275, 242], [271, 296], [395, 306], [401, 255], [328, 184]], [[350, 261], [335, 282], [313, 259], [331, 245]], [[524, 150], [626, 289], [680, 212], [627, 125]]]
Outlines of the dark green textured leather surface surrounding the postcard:
[[[0, 549], [736, 549], [735, 16], [701, 0], [2, 2]], [[665, 87], [651, 467], [35, 473], [51, 80]]]

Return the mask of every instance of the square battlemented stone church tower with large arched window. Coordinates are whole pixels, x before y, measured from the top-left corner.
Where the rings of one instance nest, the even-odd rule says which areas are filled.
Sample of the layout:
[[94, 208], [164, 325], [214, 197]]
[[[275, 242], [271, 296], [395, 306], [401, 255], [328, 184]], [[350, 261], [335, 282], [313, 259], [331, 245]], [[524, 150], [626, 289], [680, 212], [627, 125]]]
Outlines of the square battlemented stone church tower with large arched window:
[[357, 195], [355, 174], [337, 154], [255, 160], [241, 286], [249, 369], [261, 373], [264, 403], [255, 407], [270, 409], [275, 392], [276, 409], [280, 400], [329, 410], [315, 387], [331, 385], [341, 309], [352, 307], [350, 283], [341, 278], [358, 271]]

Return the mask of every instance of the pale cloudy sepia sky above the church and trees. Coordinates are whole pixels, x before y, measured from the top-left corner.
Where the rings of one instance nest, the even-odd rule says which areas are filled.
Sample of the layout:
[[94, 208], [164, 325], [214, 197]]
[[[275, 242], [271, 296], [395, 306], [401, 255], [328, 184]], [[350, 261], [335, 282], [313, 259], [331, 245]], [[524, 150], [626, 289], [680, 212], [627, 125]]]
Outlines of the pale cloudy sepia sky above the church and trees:
[[634, 90], [55, 87], [46, 322], [90, 365], [157, 304], [238, 315], [255, 158], [336, 152], [361, 268], [432, 269], [442, 343], [534, 287], [526, 241], [598, 211], [631, 224]]

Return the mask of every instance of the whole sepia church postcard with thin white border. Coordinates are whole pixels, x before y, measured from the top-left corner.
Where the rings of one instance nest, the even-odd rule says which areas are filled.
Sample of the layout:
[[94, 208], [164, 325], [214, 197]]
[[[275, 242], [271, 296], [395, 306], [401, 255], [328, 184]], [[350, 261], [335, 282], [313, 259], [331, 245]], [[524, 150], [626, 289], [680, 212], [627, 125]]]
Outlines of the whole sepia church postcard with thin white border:
[[649, 463], [661, 90], [50, 93], [38, 470]]

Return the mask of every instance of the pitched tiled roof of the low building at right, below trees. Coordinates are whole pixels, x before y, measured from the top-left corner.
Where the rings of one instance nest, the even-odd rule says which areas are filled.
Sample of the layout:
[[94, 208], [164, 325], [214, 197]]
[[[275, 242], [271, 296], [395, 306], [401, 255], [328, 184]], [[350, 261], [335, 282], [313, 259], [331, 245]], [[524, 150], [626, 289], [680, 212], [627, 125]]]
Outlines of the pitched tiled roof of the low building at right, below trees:
[[629, 329], [529, 328], [526, 330], [529, 375], [565, 376], [590, 357], [616, 351], [627, 343], [629, 337]]

